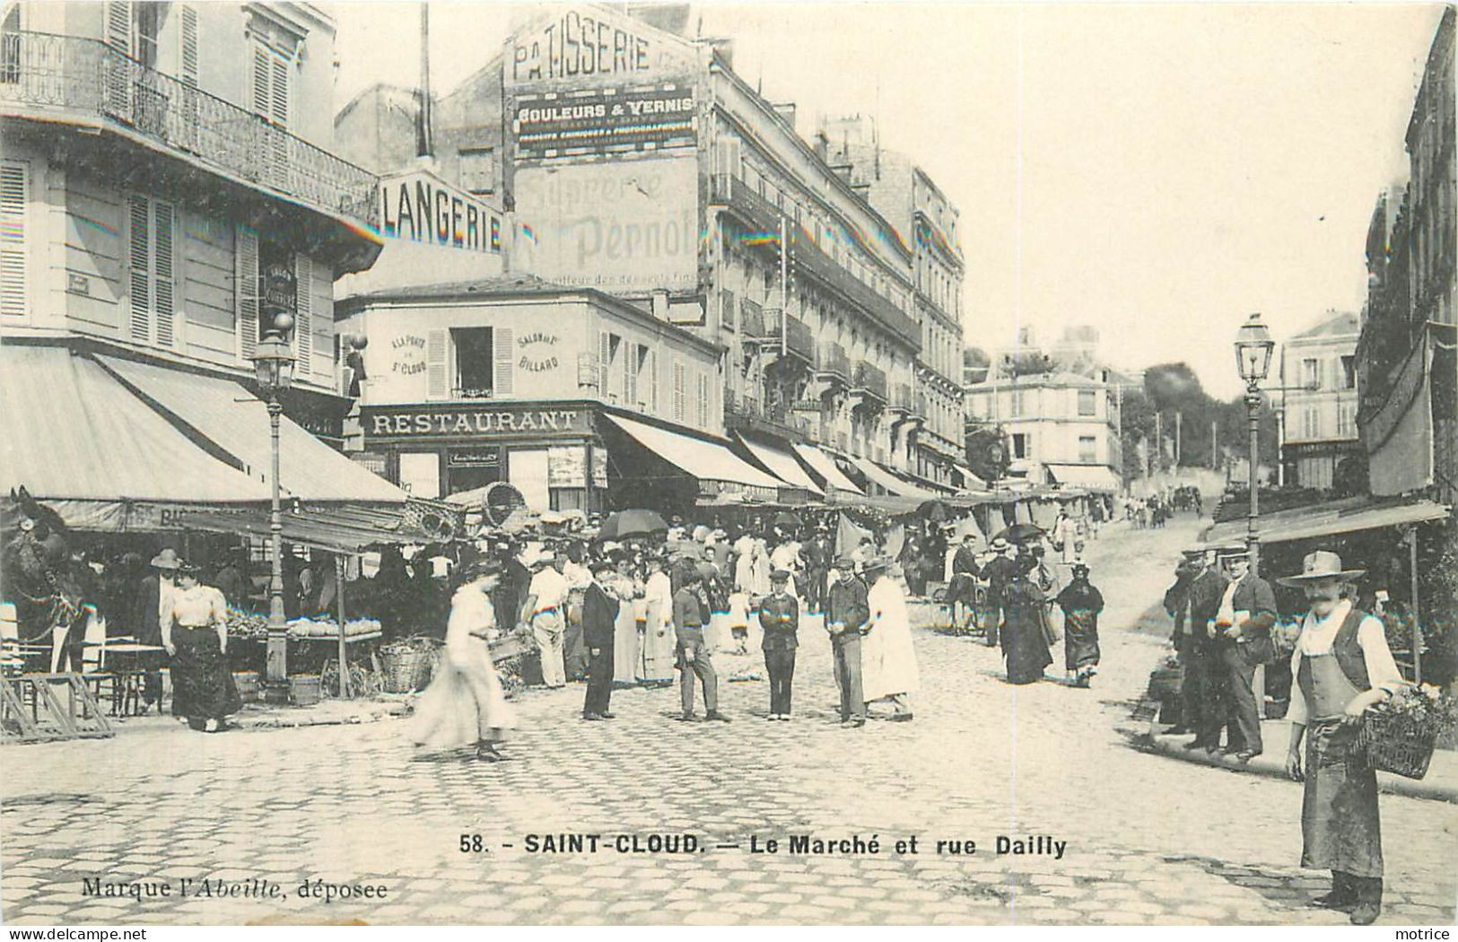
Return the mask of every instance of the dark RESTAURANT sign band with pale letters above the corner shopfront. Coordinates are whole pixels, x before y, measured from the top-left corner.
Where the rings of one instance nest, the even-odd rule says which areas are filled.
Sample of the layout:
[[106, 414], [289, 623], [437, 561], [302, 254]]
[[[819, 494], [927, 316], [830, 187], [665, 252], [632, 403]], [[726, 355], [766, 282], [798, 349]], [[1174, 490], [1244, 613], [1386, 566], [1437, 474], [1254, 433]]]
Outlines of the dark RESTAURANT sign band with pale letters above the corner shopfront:
[[443, 407], [362, 407], [364, 437], [381, 439], [494, 439], [516, 435], [588, 435], [585, 408], [542, 404]]

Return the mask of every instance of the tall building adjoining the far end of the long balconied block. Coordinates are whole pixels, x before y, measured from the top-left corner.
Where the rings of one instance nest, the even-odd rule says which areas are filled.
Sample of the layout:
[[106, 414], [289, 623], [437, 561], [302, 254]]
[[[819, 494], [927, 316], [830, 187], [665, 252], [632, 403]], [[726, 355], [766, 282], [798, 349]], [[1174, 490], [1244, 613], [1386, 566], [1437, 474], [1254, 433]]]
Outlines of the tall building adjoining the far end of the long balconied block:
[[833, 169], [911, 242], [914, 318], [921, 331], [910, 392], [913, 411], [895, 426], [904, 467], [939, 484], [967, 484], [962, 468], [962, 276], [958, 211], [913, 159], [881, 147], [862, 115], [821, 121], [819, 147]]

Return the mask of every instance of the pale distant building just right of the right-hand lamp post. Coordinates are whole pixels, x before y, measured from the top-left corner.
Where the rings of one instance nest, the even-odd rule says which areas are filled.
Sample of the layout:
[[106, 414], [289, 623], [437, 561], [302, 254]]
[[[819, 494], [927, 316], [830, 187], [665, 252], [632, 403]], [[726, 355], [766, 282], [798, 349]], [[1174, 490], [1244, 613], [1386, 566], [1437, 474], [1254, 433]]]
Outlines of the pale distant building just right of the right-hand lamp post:
[[1331, 490], [1357, 439], [1357, 315], [1328, 311], [1280, 351], [1280, 461], [1284, 481]]

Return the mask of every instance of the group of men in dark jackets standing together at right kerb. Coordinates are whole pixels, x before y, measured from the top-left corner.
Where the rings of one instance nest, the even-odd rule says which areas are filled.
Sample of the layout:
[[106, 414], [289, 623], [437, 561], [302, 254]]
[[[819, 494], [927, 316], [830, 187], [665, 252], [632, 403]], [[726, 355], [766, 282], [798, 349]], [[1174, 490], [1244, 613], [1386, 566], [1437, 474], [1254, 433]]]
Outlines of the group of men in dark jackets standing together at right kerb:
[[1194, 733], [1187, 750], [1223, 751], [1241, 763], [1260, 755], [1255, 668], [1276, 653], [1270, 583], [1251, 572], [1247, 550], [1187, 550], [1165, 592], [1165, 611], [1175, 620], [1171, 640], [1184, 669], [1181, 719], [1172, 732]]

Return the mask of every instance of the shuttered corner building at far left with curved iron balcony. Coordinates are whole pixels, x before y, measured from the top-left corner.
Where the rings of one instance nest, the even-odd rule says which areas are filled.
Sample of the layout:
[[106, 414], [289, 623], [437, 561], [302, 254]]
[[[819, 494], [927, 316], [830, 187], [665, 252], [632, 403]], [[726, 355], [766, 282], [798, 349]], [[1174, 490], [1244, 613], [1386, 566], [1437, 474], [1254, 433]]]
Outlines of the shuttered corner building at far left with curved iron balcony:
[[[281, 311], [295, 319], [286, 410], [338, 437], [348, 401], [335, 392], [334, 280], [367, 268], [379, 238], [376, 178], [332, 152], [334, 31], [311, 3], [6, 9], [7, 373], [31, 376], [57, 404], [79, 395], [69, 384], [117, 394], [118, 410], [137, 395], [171, 416], [168, 427], [210, 442], [214, 483], [243, 470], [257, 480], [258, 456], [219, 442], [238, 433], [223, 417], [245, 395], [238, 384], [254, 382], [265, 315]], [[102, 458], [130, 455], [106, 445], [112, 432], [101, 423], [82, 435]], [[262, 433], [267, 449], [267, 424]], [[44, 440], [10, 445], [50, 454]], [[185, 480], [159, 472], [149, 490]]]

